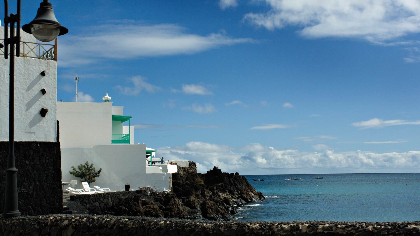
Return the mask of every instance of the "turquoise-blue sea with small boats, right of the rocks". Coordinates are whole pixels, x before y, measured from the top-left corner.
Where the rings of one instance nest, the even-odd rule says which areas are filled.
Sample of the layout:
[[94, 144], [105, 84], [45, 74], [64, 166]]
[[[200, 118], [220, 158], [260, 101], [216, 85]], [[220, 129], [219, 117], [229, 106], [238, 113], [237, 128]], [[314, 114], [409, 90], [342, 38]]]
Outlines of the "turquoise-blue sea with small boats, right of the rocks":
[[[313, 179], [322, 176], [323, 179]], [[237, 220], [420, 220], [420, 173], [245, 176], [264, 202], [239, 209]], [[263, 178], [265, 181], [252, 181]], [[285, 178], [302, 180], [284, 181]]]

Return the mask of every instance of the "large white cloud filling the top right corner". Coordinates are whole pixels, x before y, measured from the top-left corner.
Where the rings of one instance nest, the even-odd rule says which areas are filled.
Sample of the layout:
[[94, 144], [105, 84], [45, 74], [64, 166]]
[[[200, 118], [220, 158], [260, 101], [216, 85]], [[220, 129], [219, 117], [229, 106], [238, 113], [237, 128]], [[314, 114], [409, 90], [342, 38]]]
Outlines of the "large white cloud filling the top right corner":
[[244, 16], [269, 30], [298, 26], [306, 37], [352, 37], [369, 41], [420, 32], [420, 2], [415, 0], [257, 0], [265, 13]]

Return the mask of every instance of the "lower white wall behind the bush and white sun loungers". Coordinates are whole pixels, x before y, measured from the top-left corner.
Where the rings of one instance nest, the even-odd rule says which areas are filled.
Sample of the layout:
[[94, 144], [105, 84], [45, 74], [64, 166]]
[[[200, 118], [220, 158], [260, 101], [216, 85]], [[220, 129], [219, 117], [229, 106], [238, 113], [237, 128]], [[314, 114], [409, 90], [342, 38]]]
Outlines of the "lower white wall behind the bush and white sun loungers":
[[124, 190], [126, 183], [130, 184], [132, 189], [148, 186], [144, 185], [144, 179], [146, 179], [145, 152], [145, 144], [61, 147], [61, 179], [63, 182], [77, 180], [76, 187], [81, 188], [80, 179], [70, 175], [69, 171], [71, 171], [71, 166], [77, 168], [77, 165], [88, 161], [94, 163], [97, 170], [102, 168], [100, 176], [90, 184], [91, 187], [97, 185], [111, 190]]

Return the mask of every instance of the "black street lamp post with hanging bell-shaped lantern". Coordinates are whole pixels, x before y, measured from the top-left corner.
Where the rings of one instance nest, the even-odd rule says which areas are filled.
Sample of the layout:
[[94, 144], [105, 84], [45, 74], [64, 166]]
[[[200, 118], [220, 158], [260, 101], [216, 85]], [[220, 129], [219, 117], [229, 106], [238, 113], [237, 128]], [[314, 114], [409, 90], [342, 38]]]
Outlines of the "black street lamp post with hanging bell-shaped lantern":
[[[15, 166], [14, 155], [14, 112], [15, 112], [15, 45], [16, 57], [20, 54], [21, 42], [21, 0], [17, 0], [17, 14], [11, 13], [8, 16], [8, 0], [4, 0], [5, 17], [4, 17], [4, 58], [8, 59], [10, 47], [10, 69], [9, 69], [9, 155], [6, 169], [6, 188], [5, 188], [5, 202], [4, 202], [4, 218], [10, 218], [21, 215], [18, 209], [18, 184], [17, 172]], [[16, 36], [15, 36], [16, 23]], [[8, 26], [10, 24], [10, 37], [8, 36]], [[37, 16], [31, 23], [25, 24], [22, 29], [29, 34], [33, 34], [35, 38], [42, 42], [50, 42], [58, 35], [63, 35], [68, 32], [66, 27], [61, 26], [54, 16], [54, 10], [48, 0], [44, 0], [38, 8]], [[1, 45], [1, 44], [0, 44]], [[0, 46], [0, 48], [3, 45]]]

